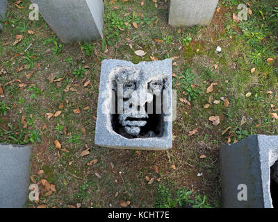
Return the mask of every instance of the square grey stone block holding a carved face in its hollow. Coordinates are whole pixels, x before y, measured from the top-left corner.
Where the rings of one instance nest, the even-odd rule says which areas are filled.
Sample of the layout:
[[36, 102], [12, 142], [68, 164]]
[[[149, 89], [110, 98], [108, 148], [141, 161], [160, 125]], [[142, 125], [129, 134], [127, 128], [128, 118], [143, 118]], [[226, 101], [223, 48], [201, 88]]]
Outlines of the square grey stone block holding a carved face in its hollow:
[[95, 144], [172, 148], [172, 60], [101, 62]]

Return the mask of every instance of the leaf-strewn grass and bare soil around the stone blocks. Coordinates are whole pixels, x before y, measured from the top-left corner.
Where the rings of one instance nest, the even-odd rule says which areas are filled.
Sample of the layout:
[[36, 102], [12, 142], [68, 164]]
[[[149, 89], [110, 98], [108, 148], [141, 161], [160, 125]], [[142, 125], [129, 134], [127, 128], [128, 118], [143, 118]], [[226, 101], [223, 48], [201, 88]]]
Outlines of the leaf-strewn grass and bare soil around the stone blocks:
[[[144, 0], [143, 6], [106, 0], [104, 40], [74, 44], [60, 42], [42, 17], [30, 22], [29, 1], [15, 2], [9, 1], [0, 35], [0, 142], [33, 144], [31, 181], [40, 187], [40, 200], [30, 207], [177, 207], [196, 205], [204, 196], [220, 207], [219, 147], [251, 134], [278, 135], [274, 0], [248, 1], [247, 21], [238, 23], [232, 15], [241, 1], [220, 1], [209, 26], [192, 28], [167, 24], [164, 0]], [[136, 56], [138, 49], [146, 55]], [[106, 58], [173, 58], [178, 99], [171, 150], [95, 146]], [[211, 83], [217, 85], [206, 93]], [[211, 116], [220, 117], [218, 126]]]

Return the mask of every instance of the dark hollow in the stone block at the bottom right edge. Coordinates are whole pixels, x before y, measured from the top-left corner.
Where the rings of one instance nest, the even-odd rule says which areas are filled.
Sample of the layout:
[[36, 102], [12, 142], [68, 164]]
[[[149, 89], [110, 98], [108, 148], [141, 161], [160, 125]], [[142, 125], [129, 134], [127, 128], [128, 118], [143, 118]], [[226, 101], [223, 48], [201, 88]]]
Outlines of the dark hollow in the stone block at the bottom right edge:
[[273, 207], [278, 209], [278, 160], [270, 167], [270, 195]]

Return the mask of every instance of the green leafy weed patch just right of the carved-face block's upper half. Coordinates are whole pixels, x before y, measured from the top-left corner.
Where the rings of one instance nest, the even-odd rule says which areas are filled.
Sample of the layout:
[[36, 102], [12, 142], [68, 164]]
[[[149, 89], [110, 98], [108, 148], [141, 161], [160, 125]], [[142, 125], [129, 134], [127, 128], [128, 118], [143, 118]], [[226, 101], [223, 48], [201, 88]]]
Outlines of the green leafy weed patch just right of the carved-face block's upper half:
[[183, 91], [188, 96], [188, 101], [192, 101], [197, 99], [199, 94], [201, 94], [201, 90], [197, 89], [193, 85], [193, 80], [195, 80], [196, 76], [193, 74], [191, 69], [186, 69], [181, 72], [182, 78], [179, 80], [181, 86], [183, 87]]

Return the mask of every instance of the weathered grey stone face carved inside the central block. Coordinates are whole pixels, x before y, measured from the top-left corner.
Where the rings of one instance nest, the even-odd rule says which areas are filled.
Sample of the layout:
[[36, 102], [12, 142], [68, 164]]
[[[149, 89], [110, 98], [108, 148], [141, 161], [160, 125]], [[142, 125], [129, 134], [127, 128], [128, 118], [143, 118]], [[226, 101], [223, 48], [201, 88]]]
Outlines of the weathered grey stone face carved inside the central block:
[[[154, 121], [152, 124], [150, 123], [146, 105], [153, 104], [154, 98], [161, 99], [164, 83], [165, 78], [162, 76], [145, 78], [142, 71], [135, 67], [117, 67], [113, 89], [117, 94], [117, 106], [123, 110], [118, 115], [118, 121], [127, 134], [140, 137], [142, 136], [142, 133], [140, 135], [141, 128], [145, 127], [147, 123], [149, 125], [161, 124]], [[161, 105], [160, 103], [160, 108]], [[145, 136], [154, 137], [154, 131], [149, 130]]]

